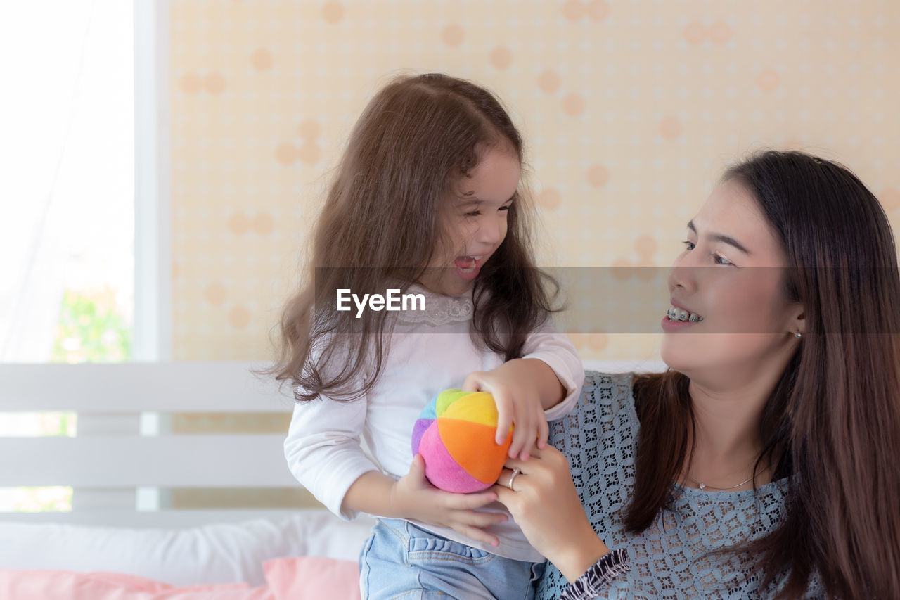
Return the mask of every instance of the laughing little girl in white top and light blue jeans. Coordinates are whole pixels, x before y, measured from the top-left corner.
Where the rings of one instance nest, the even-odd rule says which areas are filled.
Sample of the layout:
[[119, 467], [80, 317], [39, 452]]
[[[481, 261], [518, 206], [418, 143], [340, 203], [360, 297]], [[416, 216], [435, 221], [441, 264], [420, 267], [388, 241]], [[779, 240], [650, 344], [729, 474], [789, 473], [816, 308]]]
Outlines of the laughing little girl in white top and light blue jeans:
[[581, 360], [550, 323], [552, 280], [534, 266], [521, 164], [490, 92], [438, 74], [393, 81], [356, 123], [314, 272], [284, 312], [276, 373], [297, 399], [285, 457], [333, 513], [381, 517], [360, 557], [364, 597], [527, 598], [543, 568], [495, 492], [440, 491], [410, 453], [419, 412], [448, 387], [491, 392], [497, 441], [513, 424], [520, 459], [580, 391]]

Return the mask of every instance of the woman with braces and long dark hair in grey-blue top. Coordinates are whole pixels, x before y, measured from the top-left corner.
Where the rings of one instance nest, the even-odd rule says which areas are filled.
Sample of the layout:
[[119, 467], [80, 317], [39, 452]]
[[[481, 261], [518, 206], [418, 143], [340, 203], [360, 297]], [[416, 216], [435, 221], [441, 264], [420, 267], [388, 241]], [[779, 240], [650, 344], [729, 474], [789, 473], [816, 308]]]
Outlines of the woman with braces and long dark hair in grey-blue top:
[[900, 276], [878, 200], [840, 165], [761, 153], [688, 223], [669, 289], [670, 370], [589, 373], [555, 448], [495, 486], [552, 563], [538, 597], [900, 597]]

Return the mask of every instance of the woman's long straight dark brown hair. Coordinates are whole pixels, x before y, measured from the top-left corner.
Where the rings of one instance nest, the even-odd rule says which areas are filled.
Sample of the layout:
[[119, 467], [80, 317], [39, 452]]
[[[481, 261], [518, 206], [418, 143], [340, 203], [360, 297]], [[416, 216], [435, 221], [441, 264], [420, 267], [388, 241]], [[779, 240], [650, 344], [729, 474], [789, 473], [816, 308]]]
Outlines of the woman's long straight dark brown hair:
[[[762, 464], [788, 479], [778, 529], [743, 544], [762, 586], [804, 595], [900, 594], [900, 274], [887, 216], [850, 170], [802, 152], [766, 151], [728, 169], [756, 197], [788, 256], [788, 299], [806, 333], [760, 423]], [[688, 377], [635, 379], [641, 430], [626, 528], [667, 508], [689, 458]]]

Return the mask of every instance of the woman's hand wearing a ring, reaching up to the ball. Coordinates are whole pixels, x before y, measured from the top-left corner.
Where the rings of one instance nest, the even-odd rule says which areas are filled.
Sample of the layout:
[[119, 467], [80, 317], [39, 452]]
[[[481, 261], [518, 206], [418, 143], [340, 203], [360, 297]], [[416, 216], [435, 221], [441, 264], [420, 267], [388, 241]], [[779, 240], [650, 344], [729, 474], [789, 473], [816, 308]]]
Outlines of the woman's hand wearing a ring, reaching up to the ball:
[[584, 513], [569, 461], [553, 446], [535, 450], [530, 460], [509, 459], [491, 490], [531, 545], [569, 581], [608, 553]]

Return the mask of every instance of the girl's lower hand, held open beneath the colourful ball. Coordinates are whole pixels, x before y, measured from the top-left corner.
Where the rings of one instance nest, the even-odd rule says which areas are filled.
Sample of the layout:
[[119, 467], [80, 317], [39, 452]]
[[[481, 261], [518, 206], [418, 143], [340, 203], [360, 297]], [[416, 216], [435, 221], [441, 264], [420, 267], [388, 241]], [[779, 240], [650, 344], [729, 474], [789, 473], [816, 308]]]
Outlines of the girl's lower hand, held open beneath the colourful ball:
[[496, 546], [500, 543], [497, 536], [484, 530], [505, 522], [507, 515], [474, 510], [496, 500], [493, 491], [454, 494], [437, 489], [425, 478], [425, 460], [417, 454], [410, 472], [392, 486], [390, 505], [392, 516], [449, 527], [468, 538]]

